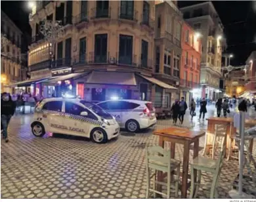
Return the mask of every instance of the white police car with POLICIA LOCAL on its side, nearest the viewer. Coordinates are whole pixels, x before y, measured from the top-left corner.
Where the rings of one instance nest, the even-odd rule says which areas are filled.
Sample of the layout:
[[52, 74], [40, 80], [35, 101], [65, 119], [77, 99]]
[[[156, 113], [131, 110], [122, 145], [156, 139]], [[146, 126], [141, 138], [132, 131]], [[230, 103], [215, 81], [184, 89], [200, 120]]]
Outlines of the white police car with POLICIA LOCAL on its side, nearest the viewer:
[[31, 124], [35, 136], [45, 132], [70, 134], [105, 143], [119, 135], [119, 125], [99, 106], [76, 98], [46, 98], [35, 108]]

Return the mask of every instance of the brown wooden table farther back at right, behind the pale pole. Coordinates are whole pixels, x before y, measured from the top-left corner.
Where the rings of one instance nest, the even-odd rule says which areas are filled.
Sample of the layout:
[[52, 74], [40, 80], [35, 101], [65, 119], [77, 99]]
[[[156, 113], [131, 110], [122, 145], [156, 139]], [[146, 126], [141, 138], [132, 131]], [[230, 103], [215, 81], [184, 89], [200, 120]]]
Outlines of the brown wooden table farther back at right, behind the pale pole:
[[[230, 144], [231, 138], [233, 134], [236, 133], [236, 128], [234, 127], [234, 119], [232, 117], [210, 117], [206, 119], [208, 121], [208, 126], [207, 126], [207, 132], [213, 134], [215, 132], [215, 125], [226, 125], [226, 134], [227, 139], [226, 139], [226, 148], [228, 149], [228, 145]], [[246, 119], [245, 120], [245, 127], [253, 127], [256, 125], [256, 120], [254, 119]], [[210, 138], [209, 135], [207, 135], [207, 146], [205, 153], [209, 153], [209, 148], [213, 146], [213, 138]], [[252, 152], [253, 150], [253, 141], [251, 141], [251, 144], [249, 146], [249, 151]]]

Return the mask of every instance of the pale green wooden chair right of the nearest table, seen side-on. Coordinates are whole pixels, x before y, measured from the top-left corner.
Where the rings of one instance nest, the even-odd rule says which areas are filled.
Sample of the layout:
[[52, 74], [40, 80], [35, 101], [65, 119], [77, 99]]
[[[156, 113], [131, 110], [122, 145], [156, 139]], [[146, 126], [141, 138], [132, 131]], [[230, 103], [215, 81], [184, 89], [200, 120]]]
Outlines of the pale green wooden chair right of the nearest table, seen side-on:
[[[190, 169], [191, 169], [190, 198], [196, 197], [198, 193], [199, 186], [201, 183], [202, 171], [211, 172], [213, 174], [213, 181], [211, 182], [210, 198], [211, 199], [213, 199], [213, 197], [217, 198], [216, 187], [217, 187], [217, 182], [219, 180], [219, 175], [221, 174], [223, 159], [226, 153], [226, 138], [224, 138], [221, 148], [222, 148], [221, 153], [218, 159], [216, 160], [205, 158], [205, 157], [196, 157], [195, 159], [192, 160], [192, 163], [190, 163]], [[198, 171], [198, 179], [194, 178], [195, 170]]]

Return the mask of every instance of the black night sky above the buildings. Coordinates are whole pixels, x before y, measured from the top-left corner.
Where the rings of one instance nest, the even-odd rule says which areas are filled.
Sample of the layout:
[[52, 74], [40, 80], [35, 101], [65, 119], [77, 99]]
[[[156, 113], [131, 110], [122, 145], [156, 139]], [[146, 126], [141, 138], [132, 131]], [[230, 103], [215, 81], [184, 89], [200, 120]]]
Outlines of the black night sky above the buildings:
[[[185, 7], [202, 2], [178, 1], [178, 5]], [[26, 5], [26, 1], [1, 1], [1, 10], [20, 30], [31, 33], [28, 22], [30, 10]], [[224, 25], [228, 43], [226, 51], [234, 54], [231, 64], [244, 64], [251, 51], [256, 51], [256, 1], [213, 1], [213, 5]]]

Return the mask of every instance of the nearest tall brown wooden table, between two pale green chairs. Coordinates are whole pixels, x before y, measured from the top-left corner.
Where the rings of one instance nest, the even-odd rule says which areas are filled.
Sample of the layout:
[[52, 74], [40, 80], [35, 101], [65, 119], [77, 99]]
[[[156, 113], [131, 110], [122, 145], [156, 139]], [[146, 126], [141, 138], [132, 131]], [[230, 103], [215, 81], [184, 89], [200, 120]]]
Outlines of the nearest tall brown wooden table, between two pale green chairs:
[[[160, 129], [154, 131], [153, 134], [159, 136], [159, 146], [164, 148], [164, 142], [171, 142], [171, 158], [175, 158], [175, 144], [184, 145], [183, 153], [183, 165], [182, 165], [182, 186], [181, 197], [186, 198], [186, 192], [188, 190], [188, 161], [190, 144], [194, 143], [194, 158], [198, 157], [199, 151], [199, 138], [205, 135], [204, 131], [190, 131], [188, 129], [182, 129], [177, 127], [170, 127], [167, 129]], [[196, 172], [195, 172], [196, 173]], [[195, 174], [195, 178], [196, 178]], [[158, 172], [158, 180], [163, 181], [163, 173]], [[161, 189], [161, 187], [159, 188]]]

